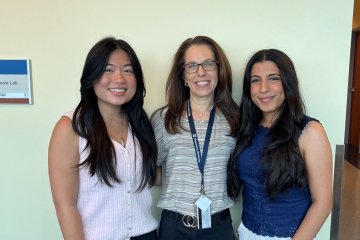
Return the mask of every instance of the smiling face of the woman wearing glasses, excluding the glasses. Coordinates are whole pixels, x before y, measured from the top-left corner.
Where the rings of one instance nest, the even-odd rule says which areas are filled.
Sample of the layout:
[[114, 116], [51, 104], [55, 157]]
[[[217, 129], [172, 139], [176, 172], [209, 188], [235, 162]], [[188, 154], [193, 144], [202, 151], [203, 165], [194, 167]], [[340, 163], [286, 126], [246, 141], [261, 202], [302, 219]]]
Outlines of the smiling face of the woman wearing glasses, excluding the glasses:
[[[185, 65], [216, 61], [213, 52], [207, 45], [190, 46], [186, 50], [184, 58]], [[187, 73], [184, 70], [184, 81], [189, 85], [190, 98], [213, 99], [214, 91], [218, 84], [217, 66], [213, 70], [205, 71], [200, 65], [195, 73]]]

